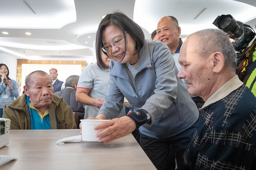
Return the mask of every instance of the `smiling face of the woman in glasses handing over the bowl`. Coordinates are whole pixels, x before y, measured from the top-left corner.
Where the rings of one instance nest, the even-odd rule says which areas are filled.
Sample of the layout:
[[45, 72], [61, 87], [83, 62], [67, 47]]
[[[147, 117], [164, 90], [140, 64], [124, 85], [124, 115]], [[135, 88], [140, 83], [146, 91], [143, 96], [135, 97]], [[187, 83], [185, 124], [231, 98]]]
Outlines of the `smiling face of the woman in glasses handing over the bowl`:
[[[111, 51], [107, 52], [107, 54], [115, 61], [119, 63], [130, 63], [134, 65], [139, 60], [139, 53], [134, 55], [135, 53], [135, 40], [129, 35], [126, 34], [127, 37], [127, 49], [125, 53], [125, 41], [124, 41], [123, 32], [117, 26], [110, 25], [105, 28], [102, 33], [102, 42], [103, 45], [111, 45]], [[123, 39], [122, 39], [123, 38]], [[122, 39], [122, 45], [116, 47], [113, 44], [116, 40]]]

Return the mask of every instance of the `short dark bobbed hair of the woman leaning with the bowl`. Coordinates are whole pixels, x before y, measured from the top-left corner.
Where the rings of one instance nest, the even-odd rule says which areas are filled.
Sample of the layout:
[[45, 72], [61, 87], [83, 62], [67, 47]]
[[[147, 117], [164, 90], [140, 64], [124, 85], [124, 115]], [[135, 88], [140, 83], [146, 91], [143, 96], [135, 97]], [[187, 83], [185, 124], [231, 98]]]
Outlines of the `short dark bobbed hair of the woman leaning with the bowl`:
[[[98, 66], [101, 69], [107, 69], [101, 58], [101, 49], [103, 48], [102, 42], [102, 33], [106, 29], [107, 26], [114, 25], [120, 28], [124, 35], [125, 41], [125, 54], [127, 50], [127, 37], [126, 33], [128, 33], [135, 40], [135, 54], [139, 52], [139, 50], [143, 47], [145, 41], [145, 35], [138, 24], [136, 24], [133, 20], [131, 20], [127, 15], [118, 11], [114, 13], [107, 14], [105, 18], [103, 18], [99, 24], [97, 33], [96, 33], [96, 58]], [[105, 53], [105, 52], [104, 52]], [[106, 53], [105, 53], [106, 54]]]

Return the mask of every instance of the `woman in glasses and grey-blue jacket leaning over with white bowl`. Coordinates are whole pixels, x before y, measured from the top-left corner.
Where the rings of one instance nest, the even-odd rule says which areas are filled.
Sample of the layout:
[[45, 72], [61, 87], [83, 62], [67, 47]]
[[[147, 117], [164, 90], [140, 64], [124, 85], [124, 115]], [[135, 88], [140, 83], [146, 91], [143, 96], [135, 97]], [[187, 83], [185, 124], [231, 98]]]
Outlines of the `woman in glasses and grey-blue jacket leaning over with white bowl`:
[[[96, 137], [111, 142], [139, 128], [140, 146], [157, 169], [170, 169], [170, 148], [177, 163], [194, 134], [198, 109], [178, 79], [178, 69], [166, 44], [145, 40], [140, 26], [121, 12], [107, 14], [96, 33], [96, 57], [111, 57], [108, 93], [96, 118], [111, 119]], [[135, 111], [116, 118], [124, 97]]]

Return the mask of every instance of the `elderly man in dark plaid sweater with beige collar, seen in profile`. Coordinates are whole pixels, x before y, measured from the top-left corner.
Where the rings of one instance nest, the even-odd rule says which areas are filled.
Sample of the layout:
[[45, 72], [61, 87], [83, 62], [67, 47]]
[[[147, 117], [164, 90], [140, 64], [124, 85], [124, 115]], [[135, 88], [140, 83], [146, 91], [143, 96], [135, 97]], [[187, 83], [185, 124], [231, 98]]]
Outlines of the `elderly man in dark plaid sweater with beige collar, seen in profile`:
[[178, 61], [188, 92], [205, 101], [180, 169], [255, 169], [256, 98], [235, 74], [227, 36], [218, 29], [191, 34]]

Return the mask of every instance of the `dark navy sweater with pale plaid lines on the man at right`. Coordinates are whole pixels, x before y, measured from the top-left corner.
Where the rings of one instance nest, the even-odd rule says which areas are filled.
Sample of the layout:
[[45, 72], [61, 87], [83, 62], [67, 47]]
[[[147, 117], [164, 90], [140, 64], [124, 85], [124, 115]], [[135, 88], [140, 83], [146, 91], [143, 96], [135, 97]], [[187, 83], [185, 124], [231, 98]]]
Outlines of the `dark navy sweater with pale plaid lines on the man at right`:
[[256, 98], [244, 85], [205, 108], [180, 169], [256, 169]]

